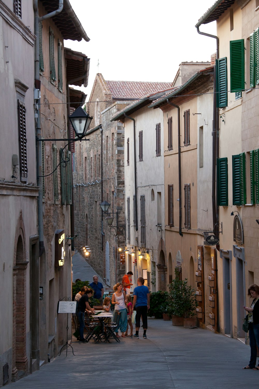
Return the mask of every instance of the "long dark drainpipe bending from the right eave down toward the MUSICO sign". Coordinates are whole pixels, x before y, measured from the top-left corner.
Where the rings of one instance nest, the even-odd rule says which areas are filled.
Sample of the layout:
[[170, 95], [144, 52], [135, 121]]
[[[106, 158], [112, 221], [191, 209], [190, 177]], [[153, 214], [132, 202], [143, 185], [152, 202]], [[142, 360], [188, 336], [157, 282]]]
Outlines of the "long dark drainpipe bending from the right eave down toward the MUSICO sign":
[[[216, 39], [216, 60], [219, 59], [219, 37], [211, 35], [199, 30], [196, 26], [197, 32], [200, 35]], [[213, 232], [218, 237], [219, 224], [219, 207], [216, 202], [217, 179], [216, 166], [217, 158], [219, 158], [219, 109], [217, 108], [217, 84], [216, 84], [216, 65], [214, 65], [214, 98], [213, 98], [213, 132], [212, 132], [212, 217], [213, 217]]]

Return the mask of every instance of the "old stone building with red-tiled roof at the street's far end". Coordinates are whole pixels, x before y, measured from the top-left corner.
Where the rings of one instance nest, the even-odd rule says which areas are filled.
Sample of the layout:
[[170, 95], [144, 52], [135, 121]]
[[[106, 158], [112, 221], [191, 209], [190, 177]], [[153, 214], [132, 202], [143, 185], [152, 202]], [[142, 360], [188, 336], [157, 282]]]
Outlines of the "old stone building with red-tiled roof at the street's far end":
[[[94, 118], [87, 135], [90, 141], [75, 146], [73, 193], [78, 245], [89, 246], [90, 265], [111, 286], [125, 273], [125, 259], [120, 256], [125, 249], [125, 163], [123, 125], [110, 123], [110, 119], [130, 101], [157, 91], [158, 84], [106, 81], [97, 74], [86, 106]], [[99, 205], [103, 201], [110, 203], [108, 214], [114, 217], [111, 228]]]

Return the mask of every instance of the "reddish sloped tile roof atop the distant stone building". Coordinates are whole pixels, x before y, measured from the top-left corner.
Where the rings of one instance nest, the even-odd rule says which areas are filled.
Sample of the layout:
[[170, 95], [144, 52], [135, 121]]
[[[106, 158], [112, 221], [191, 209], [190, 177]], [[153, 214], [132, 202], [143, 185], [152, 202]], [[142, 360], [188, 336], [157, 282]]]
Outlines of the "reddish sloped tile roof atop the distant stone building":
[[172, 82], [107, 81], [113, 100], [143, 98], [160, 90], [169, 89]]

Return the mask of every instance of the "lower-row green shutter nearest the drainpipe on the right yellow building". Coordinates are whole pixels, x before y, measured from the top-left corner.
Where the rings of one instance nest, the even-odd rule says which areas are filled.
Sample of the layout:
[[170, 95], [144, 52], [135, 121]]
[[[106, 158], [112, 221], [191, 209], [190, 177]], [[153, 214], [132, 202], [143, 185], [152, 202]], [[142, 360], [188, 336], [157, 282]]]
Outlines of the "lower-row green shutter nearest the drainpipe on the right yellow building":
[[228, 158], [217, 159], [217, 203], [228, 206]]

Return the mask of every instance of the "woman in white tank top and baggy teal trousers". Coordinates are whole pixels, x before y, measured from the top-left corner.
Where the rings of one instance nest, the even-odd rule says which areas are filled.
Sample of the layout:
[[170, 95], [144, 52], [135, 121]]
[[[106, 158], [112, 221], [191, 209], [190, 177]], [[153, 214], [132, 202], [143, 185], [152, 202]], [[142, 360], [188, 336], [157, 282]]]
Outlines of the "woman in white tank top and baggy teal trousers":
[[111, 303], [115, 305], [114, 311], [113, 311], [113, 321], [115, 320], [115, 314], [118, 313], [120, 315], [120, 321], [115, 329], [116, 336], [120, 338], [118, 334], [118, 329], [120, 328], [120, 331], [122, 332], [122, 338], [125, 338], [124, 332], [127, 329], [127, 307], [125, 304], [126, 301], [126, 293], [122, 290], [123, 285], [118, 282], [116, 285], [113, 286], [114, 293], [111, 298]]

